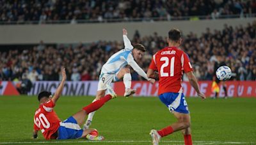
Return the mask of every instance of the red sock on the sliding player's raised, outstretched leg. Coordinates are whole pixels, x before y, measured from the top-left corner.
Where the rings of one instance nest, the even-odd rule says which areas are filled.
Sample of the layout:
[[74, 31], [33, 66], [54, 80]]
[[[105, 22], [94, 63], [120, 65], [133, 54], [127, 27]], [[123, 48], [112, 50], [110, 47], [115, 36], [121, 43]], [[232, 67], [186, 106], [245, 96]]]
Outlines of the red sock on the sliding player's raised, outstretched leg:
[[105, 104], [105, 102], [108, 102], [108, 100], [112, 99], [111, 95], [105, 95], [105, 97], [96, 100], [95, 102], [92, 102], [86, 107], [83, 107], [84, 111], [86, 111], [87, 114], [92, 113], [93, 111], [96, 111], [101, 106]]

